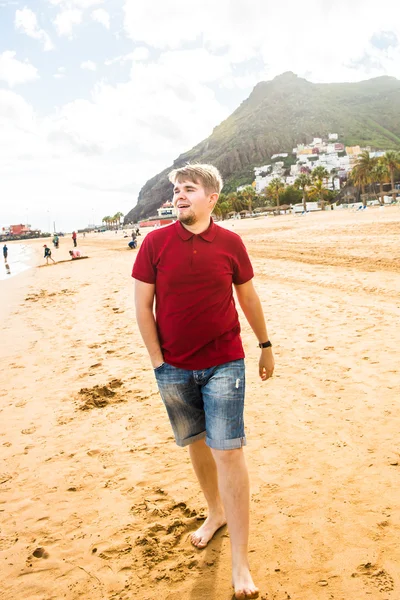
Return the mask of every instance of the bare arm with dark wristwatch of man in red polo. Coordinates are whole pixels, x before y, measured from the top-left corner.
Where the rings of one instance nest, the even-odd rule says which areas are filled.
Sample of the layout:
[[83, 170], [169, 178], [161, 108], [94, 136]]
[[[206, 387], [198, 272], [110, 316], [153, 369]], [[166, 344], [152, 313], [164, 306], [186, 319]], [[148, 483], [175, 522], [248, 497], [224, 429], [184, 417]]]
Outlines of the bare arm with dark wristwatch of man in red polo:
[[[241, 309], [258, 341], [260, 343], [268, 342], [269, 337], [264, 313], [260, 298], [254, 289], [253, 280], [250, 279], [246, 283], [235, 285], [235, 290]], [[272, 348], [262, 348], [259, 360], [259, 374], [262, 381], [266, 381], [272, 376], [274, 367], [275, 360]]]

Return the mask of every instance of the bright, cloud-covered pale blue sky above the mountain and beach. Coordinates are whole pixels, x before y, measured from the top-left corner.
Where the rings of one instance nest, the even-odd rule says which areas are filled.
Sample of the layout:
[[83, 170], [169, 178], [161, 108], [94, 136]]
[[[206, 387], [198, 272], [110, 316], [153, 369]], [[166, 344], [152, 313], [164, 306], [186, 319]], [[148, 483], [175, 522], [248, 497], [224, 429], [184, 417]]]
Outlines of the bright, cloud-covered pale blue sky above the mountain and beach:
[[126, 214], [285, 71], [400, 79], [400, 2], [0, 0], [0, 227]]

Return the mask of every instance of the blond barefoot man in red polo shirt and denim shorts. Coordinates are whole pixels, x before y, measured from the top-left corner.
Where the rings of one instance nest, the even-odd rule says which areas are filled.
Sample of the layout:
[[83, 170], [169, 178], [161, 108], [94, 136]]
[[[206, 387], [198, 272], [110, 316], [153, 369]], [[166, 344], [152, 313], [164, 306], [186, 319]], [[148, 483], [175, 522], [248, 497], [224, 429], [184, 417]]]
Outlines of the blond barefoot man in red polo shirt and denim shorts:
[[223, 185], [218, 170], [187, 165], [169, 179], [178, 220], [150, 232], [140, 247], [132, 272], [136, 318], [176, 442], [189, 447], [208, 505], [192, 544], [204, 548], [228, 523], [235, 598], [257, 598], [247, 556], [244, 352], [233, 286], [262, 346], [262, 381], [274, 370], [271, 343], [247, 251], [211, 219]]

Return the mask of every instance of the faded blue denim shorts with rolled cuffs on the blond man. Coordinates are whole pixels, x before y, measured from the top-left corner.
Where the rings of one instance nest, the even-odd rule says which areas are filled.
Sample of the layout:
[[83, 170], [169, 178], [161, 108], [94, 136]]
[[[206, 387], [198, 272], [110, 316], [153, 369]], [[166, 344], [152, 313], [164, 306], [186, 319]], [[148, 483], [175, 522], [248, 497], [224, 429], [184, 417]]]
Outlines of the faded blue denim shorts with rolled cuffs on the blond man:
[[178, 446], [202, 438], [216, 450], [233, 450], [246, 444], [242, 358], [201, 371], [163, 363], [154, 374]]

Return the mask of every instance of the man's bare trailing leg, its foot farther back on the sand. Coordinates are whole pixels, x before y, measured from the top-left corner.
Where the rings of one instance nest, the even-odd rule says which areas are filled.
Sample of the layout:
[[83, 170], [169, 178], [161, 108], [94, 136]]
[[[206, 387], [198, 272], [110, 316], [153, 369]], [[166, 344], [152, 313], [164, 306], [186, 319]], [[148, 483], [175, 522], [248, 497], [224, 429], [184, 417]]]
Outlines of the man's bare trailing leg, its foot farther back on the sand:
[[218, 490], [217, 467], [205, 440], [190, 444], [189, 455], [208, 506], [208, 517], [192, 534], [191, 542], [197, 548], [205, 548], [214, 533], [226, 524], [225, 512]]

